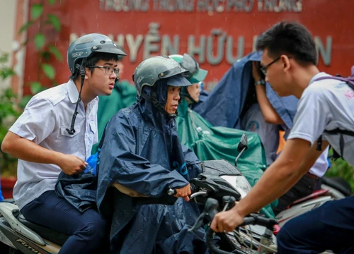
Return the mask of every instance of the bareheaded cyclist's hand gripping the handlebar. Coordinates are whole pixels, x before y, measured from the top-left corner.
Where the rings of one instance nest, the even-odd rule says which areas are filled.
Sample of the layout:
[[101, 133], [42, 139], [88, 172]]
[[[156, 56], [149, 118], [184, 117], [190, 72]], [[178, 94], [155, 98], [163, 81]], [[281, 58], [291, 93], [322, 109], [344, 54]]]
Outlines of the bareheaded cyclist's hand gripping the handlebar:
[[210, 227], [215, 232], [230, 232], [242, 223], [244, 223], [244, 217], [234, 207], [226, 212], [216, 214]]

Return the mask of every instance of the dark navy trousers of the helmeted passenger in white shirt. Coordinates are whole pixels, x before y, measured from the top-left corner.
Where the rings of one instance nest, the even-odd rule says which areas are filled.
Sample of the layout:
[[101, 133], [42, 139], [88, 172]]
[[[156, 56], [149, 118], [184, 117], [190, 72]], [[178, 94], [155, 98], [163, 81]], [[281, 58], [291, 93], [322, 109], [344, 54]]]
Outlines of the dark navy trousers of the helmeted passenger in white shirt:
[[[30, 222], [47, 226], [70, 237], [59, 251], [65, 253], [103, 253], [108, 248], [105, 221], [93, 209], [81, 213], [72, 205], [59, 198], [55, 191], [47, 191], [25, 205], [21, 210]], [[109, 249], [109, 248], [108, 248]]]

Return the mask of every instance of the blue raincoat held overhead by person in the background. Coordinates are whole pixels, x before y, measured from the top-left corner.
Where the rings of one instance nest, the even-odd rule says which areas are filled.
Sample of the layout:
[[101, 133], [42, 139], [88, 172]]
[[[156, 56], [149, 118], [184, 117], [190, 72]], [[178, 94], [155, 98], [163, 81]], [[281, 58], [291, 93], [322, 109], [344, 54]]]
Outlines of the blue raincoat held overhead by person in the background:
[[[205, 102], [193, 110], [213, 126], [241, 129], [240, 116], [252, 78], [252, 61], [261, 61], [261, 57], [261, 52], [253, 52], [236, 61]], [[279, 97], [269, 84], [266, 84], [266, 94], [287, 128], [292, 128], [298, 99], [295, 96]]]

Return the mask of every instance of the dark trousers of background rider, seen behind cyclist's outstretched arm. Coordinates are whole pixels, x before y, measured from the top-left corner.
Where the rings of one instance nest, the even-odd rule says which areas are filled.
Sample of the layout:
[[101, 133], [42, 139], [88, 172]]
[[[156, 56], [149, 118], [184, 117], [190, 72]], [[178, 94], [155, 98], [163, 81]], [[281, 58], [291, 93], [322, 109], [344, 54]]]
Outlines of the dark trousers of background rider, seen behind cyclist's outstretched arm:
[[305, 174], [302, 176], [302, 178], [295, 184], [295, 186], [292, 186], [292, 188], [287, 191], [287, 193], [278, 198], [278, 206], [273, 208], [274, 214], [276, 215], [282, 210], [285, 210], [287, 206], [295, 200], [312, 194], [318, 189], [320, 181], [321, 180], [316, 178], [314, 175]]

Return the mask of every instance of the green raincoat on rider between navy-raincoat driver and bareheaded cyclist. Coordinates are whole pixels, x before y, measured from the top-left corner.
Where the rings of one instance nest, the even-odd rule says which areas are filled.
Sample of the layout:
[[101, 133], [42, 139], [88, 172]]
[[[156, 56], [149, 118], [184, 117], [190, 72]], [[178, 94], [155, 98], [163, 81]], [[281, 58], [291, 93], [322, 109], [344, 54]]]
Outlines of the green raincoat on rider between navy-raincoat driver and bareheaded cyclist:
[[[241, 135], [246, 133], [249, 148], [239, 158], [237, 167], [251, 186], [261, 178], [267, 164], [261, 139], [256, 133], [212, 126], [197, 112], [188, 108], [185, 99], [182, 99], [182, 103], [178, 105], [176, 122], [181, 143], [190, 147], [202, 161], [227, 159], [234, 164], [236, 156], [239, 155], [237, 152], [239, 140]], [[273, 205], [277, 203], [274, 202]], [[275, 217], [270, 205], [263, 208], [261, 212], [268, 217]]]

